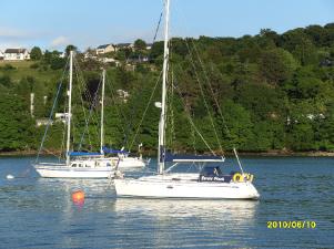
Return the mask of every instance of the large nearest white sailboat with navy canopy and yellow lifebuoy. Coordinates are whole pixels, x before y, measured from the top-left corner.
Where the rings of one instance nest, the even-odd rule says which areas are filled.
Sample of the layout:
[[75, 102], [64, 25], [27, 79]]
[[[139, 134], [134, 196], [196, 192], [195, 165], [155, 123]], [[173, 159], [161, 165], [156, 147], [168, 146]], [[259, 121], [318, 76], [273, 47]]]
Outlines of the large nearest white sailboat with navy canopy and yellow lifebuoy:
[[[165, 0], [165, 27], [164, 27], [164, 61], [161, 116], [159, 123], [159, 156], [158, 175], [140, 178], [123, 178], [118, 174], [114, 179], [115, 191], [121, 197], [145, 198], [191, 198], [191, 199], [257, 199], [260, 197], [252, 184], [252, 177], [241, 173], [222, 175], [220, 167], [202, 167], [202, 172], [171, 173], [170, 170], [181, 163], [223, 163], [224, 157], [219, 156], [175, 156], [165, 151], [165, 114], [166, 114], [166, 77], [169, 62], [169, 8], [170, 1]], [[239, 162], [236, 151], [234, 149]], [[174, 163], [165, 169], [165, 163]], [[240, 162], [239, 162], [240, 163]]]

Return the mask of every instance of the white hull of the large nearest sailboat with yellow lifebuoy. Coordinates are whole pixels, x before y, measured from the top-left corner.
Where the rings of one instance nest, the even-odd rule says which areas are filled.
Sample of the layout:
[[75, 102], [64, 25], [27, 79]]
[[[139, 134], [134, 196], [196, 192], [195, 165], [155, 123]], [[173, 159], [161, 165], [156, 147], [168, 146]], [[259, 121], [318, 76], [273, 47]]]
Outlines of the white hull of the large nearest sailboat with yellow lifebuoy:
[[198, 181], [196, 178], [165, 176], [139, 179], [114, 179], [118, 196], [144, 198], [189, 199], [257, 199], [255, 187], [250, 183]]

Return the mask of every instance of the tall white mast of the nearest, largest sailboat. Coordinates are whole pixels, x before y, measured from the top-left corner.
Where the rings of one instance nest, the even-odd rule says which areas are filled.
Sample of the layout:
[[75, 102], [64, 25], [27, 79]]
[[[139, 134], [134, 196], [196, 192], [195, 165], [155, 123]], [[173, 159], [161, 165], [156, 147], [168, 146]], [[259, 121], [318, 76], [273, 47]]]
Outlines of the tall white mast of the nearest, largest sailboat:
[[164, 169], [164, 141], [165, 141], [165, 95], [166, 95], [166, 80], [168, 80], [168, 63], [169, 63], [169, 19], [170, 19], [170, 0], [165, 0], [165, 21], [164, 21], [164, 50], [163, 50], [163, 75], [162, 75], [162, 101], [161, 101], [161, 117], [159, 123], [159, 153], [158, 153], [158, 173], [162, 174]]

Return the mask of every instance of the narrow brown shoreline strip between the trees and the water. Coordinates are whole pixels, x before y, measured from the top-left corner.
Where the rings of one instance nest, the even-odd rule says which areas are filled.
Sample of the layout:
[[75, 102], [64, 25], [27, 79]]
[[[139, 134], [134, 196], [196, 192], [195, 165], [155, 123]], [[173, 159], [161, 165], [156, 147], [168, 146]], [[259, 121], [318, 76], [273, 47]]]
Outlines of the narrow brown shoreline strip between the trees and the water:
[[[0, 152], [0, 157], [10, 157], [10, 156], [36, 156], [37, 151], [16, 151], [16, 152]], [[53, 152], [53, 154], [58, 154], [59, 152]], [[297, 156], [303, 156], [303, 157], [334, 157], [334, 152], [286, 152], [286, 151], [272, 151], [272, 152], [239, 152], [237, 153], [241, 156], [259, 156], [259, 157], [297, 157]], [[48, 153], [41, 153], [41, 156], [50, 156], [51, 154]], [[154, 157], [156, 156], [152, 152], [144, 152], [142, 153], [144, 157]], [[231, 157], [234, 154], [232, 152], [226, 152], [225, 156]]]

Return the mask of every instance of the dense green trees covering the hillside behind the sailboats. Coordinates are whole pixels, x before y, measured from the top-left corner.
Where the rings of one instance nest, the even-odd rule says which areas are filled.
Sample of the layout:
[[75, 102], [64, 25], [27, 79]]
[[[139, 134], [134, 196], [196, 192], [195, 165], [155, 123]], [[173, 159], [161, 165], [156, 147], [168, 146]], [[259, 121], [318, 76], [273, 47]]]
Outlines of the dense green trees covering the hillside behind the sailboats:
[[[334, 149], [334, 23], [283, 34], [264, 29], [257, 35], [237, 39], [173, 38], [171, 51], [169, 147], [206, 152], [198, 135], [201, 133], [215, 151]], [[1, 151], [38, 147], [43, 127], [34, 127], [29, 116], [30, 93], [36, 93], [33, 118], [47, 117], [59, 83], [55, 79], [61, 76], [67, 59], [59, 58], [57, 52], [47, 51], [40, 59], [39, 52], [36, 54], [34, 66], [19, 81], [12, 80], [12, 75], [20, 69], [1, 66]], [[151, 50], [145, 50], [144, 41], [139, 40], [134, 50], [124, 49], [111, 55], [122, 63], [107, 68], [105, 143], [132, 151], [143, 143], [146, 151], [153, 151], [159, 122], [154, 102], [161, 98], [161, 84], [155, 89], [155, 83], [162, 68], [163, 43], [155, 42]], [[128, 59], [143, 55], [150, 62], [134, 62], [130, 68], [134, 70], [129, 70]], [[78, 56], [78, 61], [87, 83], [83, 89], [78, 79], [74, 83], [74, 145], [80, 146], [82, 141], [84, 148], [97, 149], [100, 105], [92, 104], [93, 95], [101, 91], [101, 63], [83, 56]], [[39, 79], [45, 72], [52, 81]], [[122, 97], [117, 90], [126, 91], [130, 96]], [[57, 112], [63, 112], [64, 100], [65, 85]], [[90, 108], [95, 115], [90, 122], [94, 127], [89, 127], [89, 135], [81, 139]], [[62, 126], [52, 125], [55, 132], [51, 132], [47, 143], [52, 149], [61, 146]]]

